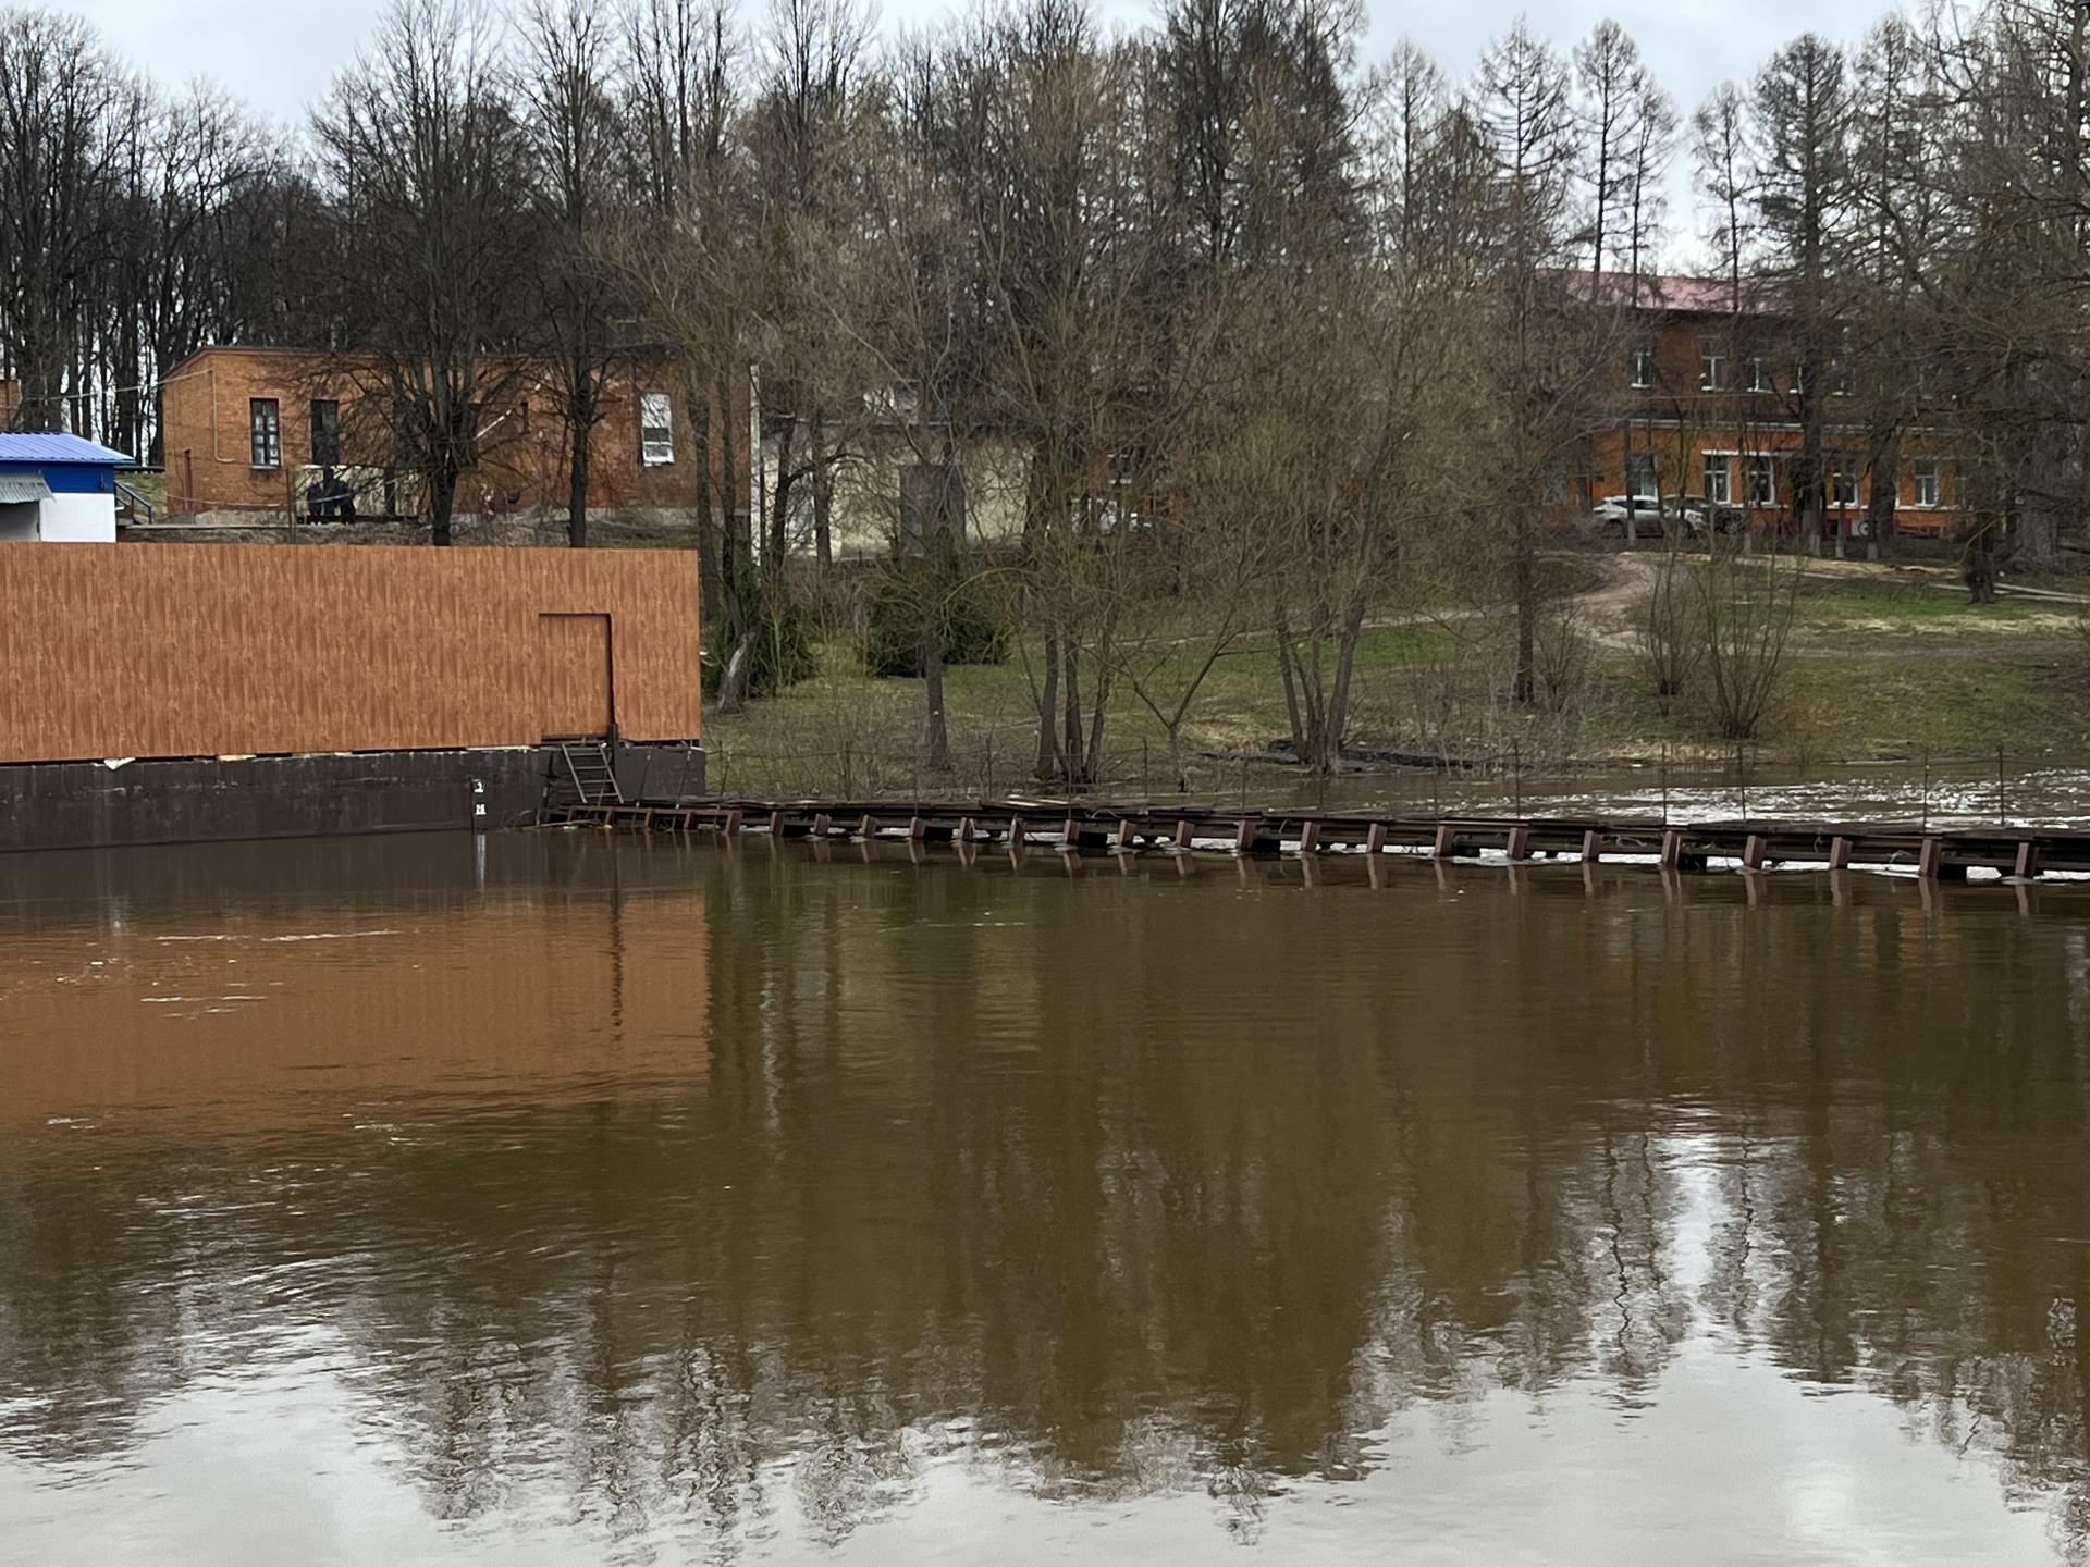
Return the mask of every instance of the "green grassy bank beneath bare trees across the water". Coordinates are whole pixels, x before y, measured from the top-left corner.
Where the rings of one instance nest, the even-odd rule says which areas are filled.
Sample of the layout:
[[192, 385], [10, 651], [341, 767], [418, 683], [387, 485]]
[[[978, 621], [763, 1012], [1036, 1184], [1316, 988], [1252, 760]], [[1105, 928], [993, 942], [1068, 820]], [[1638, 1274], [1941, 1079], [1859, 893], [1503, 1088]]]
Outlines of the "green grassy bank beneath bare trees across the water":
[[[1557, 579], [1586, 589], [1601, 566]], [[1802, 598], [1785, 689], [1756, 752], [1764, 761], [1831, 765], [1891, 758], [2090, 756], [2090, 644], [2077, 608], [2004, 600], [1973, 608], [1940, 591], [1948, 572], [1835, 568]], [[2075, 591], [2071, 583], [2040, 583]], [[1720, 756], [1733, 748], [1689, 698], [1662, 702], [1613, 637], [1557, 712], [1503, 700], [1507, 618], [1501, 612], [1417, 618], [1388, 612], [1358, 648], [1352, 742], [1455, 756], [1507, 756], [1526, 767], [1616, 758]], [[1032, 650], [1032, 658], [1035, 658]], [[1154, 681], [1172, 702], [1198, 658], [1183, 650]], [[924, 775], [922, 681], [869, 679], [846, 641], [821, 648], [821, 673], [740, 715], [711, 717], [713, 784], [736, 794], [1007, 792], [1028, 781], [1037, 719], [1024, 658], [953, 669], [945, 689], [953, 773]], [[1231, 790], [1241, 752], [1287, 735], [1283, 685], [1269, 635], [1229, 650], [1185, 727], [1193, 790]], [[1106, 729], [1110, 788], [1168, 786], [1166, 729], [1124, 679]], [[1225, 758], [1206, 756], [1218, 752]], [[1273, 773], [1269, 786], [1287, 775]]]

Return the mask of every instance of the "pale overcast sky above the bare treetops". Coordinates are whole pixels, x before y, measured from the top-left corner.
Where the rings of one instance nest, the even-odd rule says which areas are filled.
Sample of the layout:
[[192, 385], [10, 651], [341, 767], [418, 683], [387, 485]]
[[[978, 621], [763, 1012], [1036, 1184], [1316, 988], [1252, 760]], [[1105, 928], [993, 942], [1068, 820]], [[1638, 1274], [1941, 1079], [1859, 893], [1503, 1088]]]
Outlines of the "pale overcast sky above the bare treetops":
[[[33, 2], [33, 0], [31, 0]], [[46, 0], [48, 2], [48, 0]], [[610, 4], [610, 0], [602, 0]], [[1894, 0], [1367, 0], [1371, 33], [1365, 59], [1413, 38], [1457, 79], [1465, 79], [1486, 42], [1519, 15], [1561, 48], [1599, 19], [1616, 17], [1676, 94], [1689, 117], [1726, 77], [1747, 81], [1770, 50], [1814, 27], [1856, 42]], [[59, 0], [61, 6], [67, 0]], [[742, 0], [759, 15], [763, 0]], [[1097, 0], [1114, 21], [1154, 15], [1139, 0]], [[265, 115], [303, 123], [318, 98], [370, 31], [382, 0], [71, 0], [134, 65], [165, 86], [209, 75]], [[884, 0], [888, 23], [930, 23], [961, 6], [949, 0]], [[1678, 171], [1680, 173], [1680, 171]], [[1689, 244], [1691, 213], [1672, 213]]]

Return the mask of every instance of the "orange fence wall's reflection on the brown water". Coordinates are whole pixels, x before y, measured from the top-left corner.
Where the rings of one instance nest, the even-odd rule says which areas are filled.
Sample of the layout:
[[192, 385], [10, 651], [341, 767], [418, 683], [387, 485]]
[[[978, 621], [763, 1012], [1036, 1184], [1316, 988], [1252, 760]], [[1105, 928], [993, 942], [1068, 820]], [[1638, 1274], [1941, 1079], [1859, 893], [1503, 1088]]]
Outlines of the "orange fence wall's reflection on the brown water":
[[704, 959], [694, 888], [15, 932], [0, 1141], [52, 1116], [153, 1109], [242, 1130], [401, 1091], [700, 1080]]

